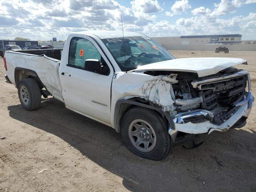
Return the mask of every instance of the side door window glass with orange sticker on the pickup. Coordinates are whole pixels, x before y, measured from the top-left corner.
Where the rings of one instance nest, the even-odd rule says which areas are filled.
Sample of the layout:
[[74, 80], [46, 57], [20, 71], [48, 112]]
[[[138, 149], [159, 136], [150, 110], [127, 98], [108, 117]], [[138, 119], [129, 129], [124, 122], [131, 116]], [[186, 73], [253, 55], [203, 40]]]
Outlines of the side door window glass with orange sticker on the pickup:
[[101, 58], [100, 53], [92, 42], [84, 38], [72, 38], [69, 48], [68, 66], [84, 69], [86, 59], [98, 59], [101, 61]]

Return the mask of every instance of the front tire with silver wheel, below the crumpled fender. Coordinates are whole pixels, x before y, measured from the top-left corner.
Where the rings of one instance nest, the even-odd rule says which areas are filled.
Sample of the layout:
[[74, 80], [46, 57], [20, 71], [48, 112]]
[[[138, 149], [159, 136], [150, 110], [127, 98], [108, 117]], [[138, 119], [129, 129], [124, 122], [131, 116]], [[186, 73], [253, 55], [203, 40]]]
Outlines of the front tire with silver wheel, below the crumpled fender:
[[[126, 148], [142, 158], [161, 160], [172, 148], [172, 139], [164, 119], [154, 110], [142, 107], [134, 107], [124, 114], [121, 122], [121, 136]], [[142, 140], [143, 137], [144, 140]], [[136, 142], [138, 142], [137, 146]]]

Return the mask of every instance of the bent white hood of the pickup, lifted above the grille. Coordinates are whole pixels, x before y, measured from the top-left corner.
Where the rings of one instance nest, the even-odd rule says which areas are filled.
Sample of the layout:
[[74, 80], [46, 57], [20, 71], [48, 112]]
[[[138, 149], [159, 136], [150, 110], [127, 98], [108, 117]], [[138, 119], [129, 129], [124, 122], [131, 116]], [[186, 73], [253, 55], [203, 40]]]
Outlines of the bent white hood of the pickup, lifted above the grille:
[[132, 71], [185, 71], [197, 73], [198, 77], [204, 77], [244, 62], [246, 60], [241, 58], [181, 58], [138, 66]]

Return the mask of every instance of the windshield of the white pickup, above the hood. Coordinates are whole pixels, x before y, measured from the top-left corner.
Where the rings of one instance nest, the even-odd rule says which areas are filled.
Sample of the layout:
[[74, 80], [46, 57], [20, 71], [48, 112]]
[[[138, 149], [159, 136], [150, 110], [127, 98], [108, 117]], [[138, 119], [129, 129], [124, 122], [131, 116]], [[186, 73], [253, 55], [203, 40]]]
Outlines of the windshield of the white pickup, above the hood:
[[147, 36], [102, 39], [122, 71], [174, 59], [162, 46]]

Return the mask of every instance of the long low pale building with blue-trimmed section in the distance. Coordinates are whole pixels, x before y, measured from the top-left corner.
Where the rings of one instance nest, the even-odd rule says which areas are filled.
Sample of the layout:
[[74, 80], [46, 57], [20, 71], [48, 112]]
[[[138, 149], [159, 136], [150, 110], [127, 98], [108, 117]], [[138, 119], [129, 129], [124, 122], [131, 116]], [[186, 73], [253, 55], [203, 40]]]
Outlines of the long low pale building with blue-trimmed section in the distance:
[[206, 44], [242, 44], [242, 35], [192, 35], [180, 37], [153, 37], [161, 45], [206, 45]]

